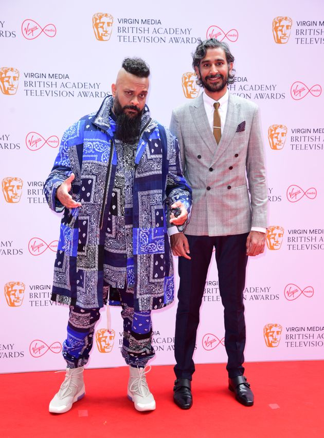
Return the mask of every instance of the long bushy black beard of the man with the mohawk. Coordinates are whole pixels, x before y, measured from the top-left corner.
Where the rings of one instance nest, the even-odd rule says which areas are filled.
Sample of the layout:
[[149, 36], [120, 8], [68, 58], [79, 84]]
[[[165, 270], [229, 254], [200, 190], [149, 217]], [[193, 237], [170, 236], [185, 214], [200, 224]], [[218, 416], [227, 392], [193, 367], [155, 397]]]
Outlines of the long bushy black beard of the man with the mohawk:
[[[137, 115], [129, 116], [125, 113], [125, 109], [134, 109]], [[116, 123], [116, 138], [125, 143], [135, 143], [139, 137], [142, 111], [134, 105], [125, 105], [121, 107], [117, 96], [114, 102], [114, 112], [117, 118]]]

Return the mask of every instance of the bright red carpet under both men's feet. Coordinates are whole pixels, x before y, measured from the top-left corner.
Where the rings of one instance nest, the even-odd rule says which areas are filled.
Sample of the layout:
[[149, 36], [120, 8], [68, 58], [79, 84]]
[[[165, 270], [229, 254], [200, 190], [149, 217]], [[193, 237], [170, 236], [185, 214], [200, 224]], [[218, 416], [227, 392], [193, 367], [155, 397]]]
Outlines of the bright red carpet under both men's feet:
[[246, 364], [255, 406], [246, 408], [226, 388], [224, 364], [197, 365], [193, 406], [172, 401], [173, 369], [153, 367], [148, 382], [156, 410], [140, 413], [126, 397], [128, 368], [86, 370], [86, 395], [61, 415], [48, 403], [64, 373], [0, 375], [2, 438], [310, 438], [324, 437], [324, 361]]

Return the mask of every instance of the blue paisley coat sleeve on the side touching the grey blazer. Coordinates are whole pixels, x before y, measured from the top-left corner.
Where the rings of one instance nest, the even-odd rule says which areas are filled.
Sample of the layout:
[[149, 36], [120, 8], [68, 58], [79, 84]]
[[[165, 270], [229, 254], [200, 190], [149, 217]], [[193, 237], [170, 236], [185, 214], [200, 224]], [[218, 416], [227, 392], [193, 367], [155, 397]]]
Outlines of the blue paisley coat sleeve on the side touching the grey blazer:
[[[168, 142], [169, 169], [167, 175], [166, 195], [167, 203], [172, 205], [181, 201], [187, 208], [188, 219], [183, 225], [178, 225], [178, 231], [184, 231], [190, 219], [192, 203], [191, 188], [189, 187], [182, 170], [178, 140], [166, 129]], [[169, 215], [168, 215], [169, 217]]]

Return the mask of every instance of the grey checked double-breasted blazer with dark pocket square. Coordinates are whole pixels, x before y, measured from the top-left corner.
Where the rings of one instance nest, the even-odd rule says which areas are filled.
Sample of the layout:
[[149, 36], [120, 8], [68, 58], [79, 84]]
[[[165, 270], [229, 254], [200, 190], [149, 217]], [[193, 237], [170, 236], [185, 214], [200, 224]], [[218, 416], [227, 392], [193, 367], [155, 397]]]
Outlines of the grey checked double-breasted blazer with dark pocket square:
[[[226, 236], [267, 226], [267, 185], [258, 106], [229, 94], [217, 145], [203, 94], [172, 112], [193, 204], [186, 234]], [[246, 178], [247, 177], [247, 178]], [[250, 192], [250, 197], [249, 193]]]

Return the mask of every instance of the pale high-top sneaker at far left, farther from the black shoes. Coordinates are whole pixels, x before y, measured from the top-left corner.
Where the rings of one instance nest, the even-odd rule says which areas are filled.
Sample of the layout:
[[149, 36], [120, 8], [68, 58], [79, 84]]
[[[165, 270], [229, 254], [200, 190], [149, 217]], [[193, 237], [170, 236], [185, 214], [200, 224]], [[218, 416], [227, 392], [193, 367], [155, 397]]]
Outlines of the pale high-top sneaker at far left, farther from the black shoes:
[[66, 368], [64, 382], [59, 392], [51, 399], [49, 412], [62, 414], [69, 411], [74, 402], [80, 400], [84, 394], [83, 367]]

